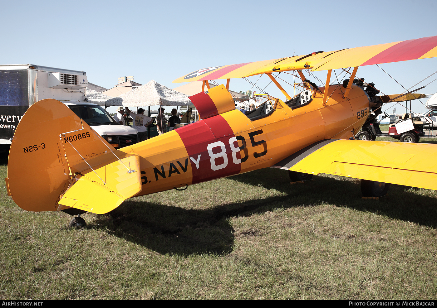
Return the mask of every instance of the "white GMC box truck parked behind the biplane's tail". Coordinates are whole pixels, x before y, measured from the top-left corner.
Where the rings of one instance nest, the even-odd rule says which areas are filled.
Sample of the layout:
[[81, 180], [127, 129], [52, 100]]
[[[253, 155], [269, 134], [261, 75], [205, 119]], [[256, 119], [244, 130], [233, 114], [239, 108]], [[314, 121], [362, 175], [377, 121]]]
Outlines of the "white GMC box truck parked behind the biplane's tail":
[[138, 142], [133, 127], [120, 125], [101, 106], [87, 103], [86, 72], [33, 64], [0, 65], [0, 144], [10, 144], [28, 108], [41, 99], [57, 99], [115, 148]]

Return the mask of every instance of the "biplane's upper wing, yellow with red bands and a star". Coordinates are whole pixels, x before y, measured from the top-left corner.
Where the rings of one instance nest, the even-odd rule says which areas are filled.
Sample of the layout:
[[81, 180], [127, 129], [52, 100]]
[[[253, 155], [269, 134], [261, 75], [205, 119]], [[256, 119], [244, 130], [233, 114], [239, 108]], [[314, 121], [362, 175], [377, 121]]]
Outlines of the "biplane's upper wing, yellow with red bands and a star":
[[309, 55], [265, 61], [214, 66], [184, 75], [173, 82], [242, 78], [306, 68], [311, 71], [323, 71], [433, 57], [437, 57], [437, 36], [336, 51], [318, 51]]

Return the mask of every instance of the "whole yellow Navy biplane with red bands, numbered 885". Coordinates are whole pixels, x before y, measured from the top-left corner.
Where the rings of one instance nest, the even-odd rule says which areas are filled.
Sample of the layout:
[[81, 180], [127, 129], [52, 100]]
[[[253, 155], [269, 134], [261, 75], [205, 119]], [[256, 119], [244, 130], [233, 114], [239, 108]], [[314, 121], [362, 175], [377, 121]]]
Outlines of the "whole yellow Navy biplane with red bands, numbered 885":
[[[119, 150], [54, 99], [32, 105], [10, 147], [7, 191], [28, 211], [80, 215], [109, 212], [127, 198], [260, 168], [291, 171], [305, 180], [319, 173], [362, 179], [366, 196], [394, 183], [437, 189], [437, 145], [354, 140], [378, 98], [354, 84], [357, 68], [437, 56], [437, 36], [315, 52], [268, 61], [215, 66], [174, 82], [202, 80], [208, 89], [190, 99], [201, 120]], [[331, 71], [353, 68], [347, 82], [330, 84]], [[317, 87], [303, 70], [327, 70]], [[291, 97], [275, 72], [297, 71], [305, 87]], [[287, 97], [242, 113], [228, 92], [229, 79], [267, 74]], [[210, 88], [209, 80], [227, 79]], [[340, 82], [339, 82], [340, 83]], [[263, 98], [264, 97], [264, 98]], [[29, 178], [32, 178], [29, 181]], [[73, 225], [84, 225], [80, 217]]]

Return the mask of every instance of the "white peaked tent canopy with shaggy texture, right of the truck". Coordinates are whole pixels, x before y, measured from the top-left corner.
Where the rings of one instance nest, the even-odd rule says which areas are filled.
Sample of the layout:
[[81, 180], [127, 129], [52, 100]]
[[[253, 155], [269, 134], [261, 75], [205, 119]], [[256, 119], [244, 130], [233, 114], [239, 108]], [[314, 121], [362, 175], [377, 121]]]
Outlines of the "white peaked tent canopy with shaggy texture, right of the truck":
[[121, 94], [118, 97], [108, 99], [105, 102], [106, 106], [127, 107], [186, 106], [193, 104], [186, 94], [167, 88], [155, 80], [151, 80], [144, 86], [140, 86], [132, 91]]

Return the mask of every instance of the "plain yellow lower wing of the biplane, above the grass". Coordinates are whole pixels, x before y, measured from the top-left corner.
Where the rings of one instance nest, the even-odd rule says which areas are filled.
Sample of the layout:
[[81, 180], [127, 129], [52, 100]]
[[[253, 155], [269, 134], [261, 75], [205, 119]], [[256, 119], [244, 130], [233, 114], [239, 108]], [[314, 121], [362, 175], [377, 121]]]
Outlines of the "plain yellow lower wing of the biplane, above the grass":
[[273, 167], [437, 189], [436, 155], [437, 144], [331, 139], [316, 142]]

